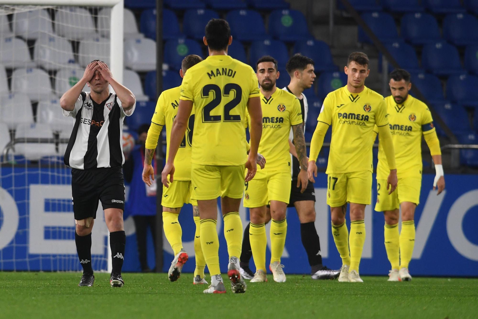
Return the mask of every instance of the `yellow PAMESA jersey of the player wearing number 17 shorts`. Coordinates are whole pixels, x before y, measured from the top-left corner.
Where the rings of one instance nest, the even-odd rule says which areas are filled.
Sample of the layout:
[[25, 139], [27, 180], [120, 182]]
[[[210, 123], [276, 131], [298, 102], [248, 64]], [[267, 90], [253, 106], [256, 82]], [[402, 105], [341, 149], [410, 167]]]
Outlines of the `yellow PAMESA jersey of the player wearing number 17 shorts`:
[[350, 93], [347, 86], [327, 94], [318, 121], [332, 125], [327, 174], [373, 171], [374, 125], [388, 125], [383, 97], [365, 87]]

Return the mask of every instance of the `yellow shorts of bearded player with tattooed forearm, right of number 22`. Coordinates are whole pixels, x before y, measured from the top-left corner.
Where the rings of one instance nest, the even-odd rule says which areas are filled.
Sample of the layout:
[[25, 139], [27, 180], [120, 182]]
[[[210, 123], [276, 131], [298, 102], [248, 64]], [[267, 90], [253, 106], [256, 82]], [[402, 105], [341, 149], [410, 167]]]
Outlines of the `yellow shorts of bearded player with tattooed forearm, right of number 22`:
[[289, 204], [291, 195], [290, 171], [257, 170], [252, 180], [245, 183], [244, 207], [261, 207], [269, 201]]

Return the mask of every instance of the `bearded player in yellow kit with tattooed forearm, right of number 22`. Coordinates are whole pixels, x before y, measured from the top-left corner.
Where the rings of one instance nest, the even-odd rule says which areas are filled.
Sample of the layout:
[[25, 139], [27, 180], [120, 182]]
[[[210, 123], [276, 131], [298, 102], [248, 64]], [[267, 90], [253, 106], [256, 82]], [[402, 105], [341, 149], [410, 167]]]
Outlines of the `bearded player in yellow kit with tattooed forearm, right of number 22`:
[[[287, 221], [285, 212], [291, 193], [291, 158], [289, 155], [289, 132], [293, 130], [295, 149], [301, 171], [297, 187], [304, 192], [307, 187], [307, 156], [302, 111], [299, 100], [291, 93], [277, 89], [279, 78], [277, 61], [273, 57], [261, 57], [256, 63], [257, 78], [261, 86], [262, 137], [259, 152], [266, 158], [267, 165], [255, 177], [246, 182], [244, 207], [250, 208], [249, 240], [256, 265], [252, 282], [266, 281], [266, 205], [271, 205], [271, 263], [275, 282], [285, 282], [281, 264], [284, 250]], [[248, 114], [249, 115], [249, 114]], [[248, 116], [248, 122], [250, 117]]]

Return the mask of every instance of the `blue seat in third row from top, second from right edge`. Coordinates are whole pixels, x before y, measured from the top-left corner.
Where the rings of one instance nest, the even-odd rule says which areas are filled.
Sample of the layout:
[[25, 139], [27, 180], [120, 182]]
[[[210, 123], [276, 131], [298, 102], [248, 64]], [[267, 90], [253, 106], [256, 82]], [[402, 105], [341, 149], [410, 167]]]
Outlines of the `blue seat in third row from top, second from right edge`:
[[460, 56], [455, 46], [446, 42], [436, 42], [423, 46], [422, 67], [438, 76], [463, 74]]

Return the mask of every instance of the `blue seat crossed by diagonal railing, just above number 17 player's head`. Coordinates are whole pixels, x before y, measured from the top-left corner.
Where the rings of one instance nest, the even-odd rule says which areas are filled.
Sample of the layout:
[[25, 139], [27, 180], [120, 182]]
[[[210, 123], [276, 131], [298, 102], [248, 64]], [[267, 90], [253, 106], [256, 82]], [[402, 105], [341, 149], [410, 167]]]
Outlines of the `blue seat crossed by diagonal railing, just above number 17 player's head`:
[[[366, 12], [362, 13], [361, 17], [381, 42], [393, 43], [400, 41], [397, 26], [390, 14], [385, 12]], [[372, 43], [372, 40], [370, 40], [361, 27], [359, 27], [358, 40], [363, 43]]]

